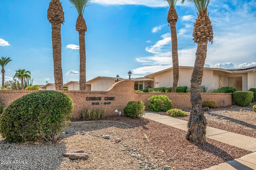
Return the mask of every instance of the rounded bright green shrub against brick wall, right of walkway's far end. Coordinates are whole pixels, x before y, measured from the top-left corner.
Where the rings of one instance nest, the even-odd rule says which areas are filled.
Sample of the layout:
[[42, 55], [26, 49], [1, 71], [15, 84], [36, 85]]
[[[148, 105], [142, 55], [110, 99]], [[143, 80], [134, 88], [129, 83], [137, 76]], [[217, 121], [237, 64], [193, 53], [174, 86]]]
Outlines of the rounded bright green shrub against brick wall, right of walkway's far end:
[[148, 109], [155, 112], [166, 112], [172, 109], [172, 101], [166, 95], [152, 96], [148, 99]]

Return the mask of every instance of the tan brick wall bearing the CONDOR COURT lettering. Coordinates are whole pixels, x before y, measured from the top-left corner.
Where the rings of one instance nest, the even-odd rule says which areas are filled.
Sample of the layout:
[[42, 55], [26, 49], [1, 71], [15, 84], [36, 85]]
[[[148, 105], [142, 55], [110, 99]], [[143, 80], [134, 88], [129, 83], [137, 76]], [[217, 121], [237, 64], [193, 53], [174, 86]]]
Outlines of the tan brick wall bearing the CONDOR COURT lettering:
[[[35, 90], [0, 90], [0, 103], [3, 108], [8, 106], [14, 100], [23, 95], [36, 92]], [[112, 85], [108, 91], [60, 91], [70, 96], [74, 102], [74, 118], [80, 117], [80, 111], [83, 107], [99, 107], [106, 108], [106, 115], [117, 115], [115, 110], [123, 112], [124, 107], [129, 101], [143, 101], [147, 108], [148, 98], [159, 93], [136, 93], [134, 91], [134, 81], [124, 80]], [[189, 93], [161, 93], [167, 95], [172, 100], [174, 108], [189, 109], [190, 98]], [[101, 101], [87, 101], [86, 97], [101, 97]], [[105, 97], [115, 97], [113, 101], [105, 101]], [[220, 107], [220, 101], [226, 99], [226, 105], [232, 105], [232, 93], [202, 93], [202, 101], [213, 99], [217, 106]], [[100, 105], [92, 105], [92, 102], [99, 102]], [[111, 102], [110, 105], [104, 105], [104, 102]], [[102, 104], [101, 104], [102, 103]]]

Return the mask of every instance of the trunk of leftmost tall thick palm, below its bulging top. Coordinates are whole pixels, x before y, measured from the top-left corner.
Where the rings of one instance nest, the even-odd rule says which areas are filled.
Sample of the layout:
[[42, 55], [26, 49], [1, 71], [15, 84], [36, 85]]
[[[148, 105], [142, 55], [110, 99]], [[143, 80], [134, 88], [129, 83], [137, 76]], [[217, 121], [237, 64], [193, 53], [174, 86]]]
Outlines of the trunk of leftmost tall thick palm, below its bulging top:
[[61, 23], [54, 21], [52, 24], [52, 53], [54, 65], [54, 83], [56, 90], [63, 89], [63, 76], [61, 65]]

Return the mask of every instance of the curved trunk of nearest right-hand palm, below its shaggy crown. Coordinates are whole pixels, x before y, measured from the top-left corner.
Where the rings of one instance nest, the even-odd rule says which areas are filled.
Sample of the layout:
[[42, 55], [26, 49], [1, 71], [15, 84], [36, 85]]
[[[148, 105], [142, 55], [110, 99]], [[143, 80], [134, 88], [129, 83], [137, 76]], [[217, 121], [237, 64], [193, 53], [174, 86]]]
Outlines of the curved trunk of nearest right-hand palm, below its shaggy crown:
[[186, 139], [198, 144], [206, 144], [206, 118], [202, 109], [202, 97], [200, 87], [204, 74], [204, 63], [207, 53], [207, 40], [199, 41], [196, 50], [196, 61], [191, 77], [190, 102], [191, 114], [188, 121], [188, 133]]

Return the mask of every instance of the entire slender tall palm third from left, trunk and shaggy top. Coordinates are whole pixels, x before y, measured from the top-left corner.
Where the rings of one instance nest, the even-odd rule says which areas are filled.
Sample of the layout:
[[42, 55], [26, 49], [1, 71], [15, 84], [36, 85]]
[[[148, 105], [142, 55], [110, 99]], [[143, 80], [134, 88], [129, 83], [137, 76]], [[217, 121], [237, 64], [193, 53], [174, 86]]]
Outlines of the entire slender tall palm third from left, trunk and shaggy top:
[[175, 9], [176, 2], [178, 0], [167, 0], [170, 5], [170, 9], [167, 16], [167, 21], [171, 28], [171, 38], [172, 38], [172, 67], [173, 67], [173, 85], [172, 93], [176, 92], [176, 88], [179, 80], [179, 59], [178, 59], [178, 40], [176, 31], [176, 22], [178, 20], [178, 15]]

